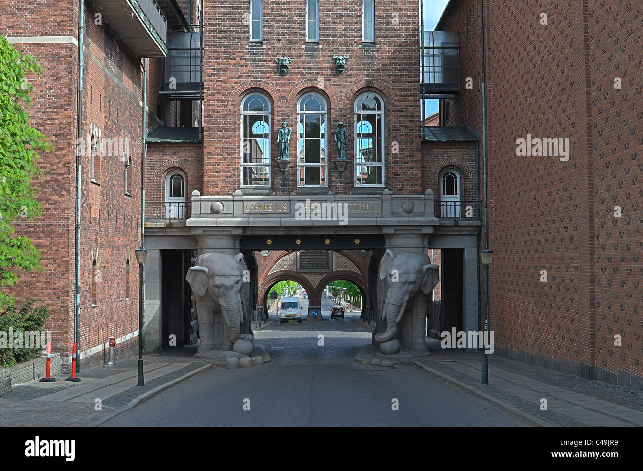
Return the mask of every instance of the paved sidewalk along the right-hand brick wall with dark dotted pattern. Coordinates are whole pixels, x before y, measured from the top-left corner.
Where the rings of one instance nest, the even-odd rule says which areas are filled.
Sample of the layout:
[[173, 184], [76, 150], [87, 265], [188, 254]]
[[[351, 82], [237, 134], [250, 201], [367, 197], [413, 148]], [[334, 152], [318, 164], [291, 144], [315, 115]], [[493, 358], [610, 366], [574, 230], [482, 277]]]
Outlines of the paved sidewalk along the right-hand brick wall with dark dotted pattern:
[[[489, 384], [481, 384], [482, 352], [442, 349], [438, 339], [428, 339], [428, 345], [431, 356], [396, 363], [422, 368], [530, 425], [643, 425], [642, 391], [497, 355], [489, 355]], [[378, 353], [379, 349], [368, 346], [358, 357], [386, 357]], [[543, 399], [547, 410], [541, 410]]]

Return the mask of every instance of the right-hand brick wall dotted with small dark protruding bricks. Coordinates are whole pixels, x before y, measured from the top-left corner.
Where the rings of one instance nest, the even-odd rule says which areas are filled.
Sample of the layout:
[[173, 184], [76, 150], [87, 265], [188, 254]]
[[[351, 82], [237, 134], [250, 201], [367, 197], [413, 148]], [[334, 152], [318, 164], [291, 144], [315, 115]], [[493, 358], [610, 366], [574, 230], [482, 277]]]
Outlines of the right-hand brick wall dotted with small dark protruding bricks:
[[[482, 135], [478, 8], [465, 1], [443, 26], [460, 31], [462, 83], [474, 78], [473, 90], [458, 93], [448, 124], [466, 123]], [[539, 23], [543, 12], [547, 25]], [[619, 370], [643, 375], [637, 15], [616, 1], [535, 8], [490, 0], [485, 10], [496, 342], [559, 364], [597, 366], [599, 378], [628, 386]], [[569, 138], [570, 159], [516, 156], [516, 139], [527, 134]], [[614, 217], [615, 206], [622, 217]]]

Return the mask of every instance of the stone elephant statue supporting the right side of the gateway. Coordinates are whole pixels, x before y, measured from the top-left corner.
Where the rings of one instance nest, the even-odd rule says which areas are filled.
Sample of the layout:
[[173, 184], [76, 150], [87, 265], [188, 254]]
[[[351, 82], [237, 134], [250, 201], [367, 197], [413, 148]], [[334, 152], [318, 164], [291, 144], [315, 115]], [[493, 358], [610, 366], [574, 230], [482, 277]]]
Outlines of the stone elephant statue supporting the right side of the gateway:
[[[379, 265], [379, 279], [386, 289], [381, 321], [386, 319], [386, 332], [374, 339], [382, 353], [404, 350], [426, 351], [426, 316], [431, 292], [439, 281], [439, 266], [431, 264], [424, 253], [395, 254], [387, 249]], [[409, 313], [404, 316], [405, 313]], [[402, 329], [398, 324], [403, 320]], [[399, 332], [400, 331], [400, 332]]]

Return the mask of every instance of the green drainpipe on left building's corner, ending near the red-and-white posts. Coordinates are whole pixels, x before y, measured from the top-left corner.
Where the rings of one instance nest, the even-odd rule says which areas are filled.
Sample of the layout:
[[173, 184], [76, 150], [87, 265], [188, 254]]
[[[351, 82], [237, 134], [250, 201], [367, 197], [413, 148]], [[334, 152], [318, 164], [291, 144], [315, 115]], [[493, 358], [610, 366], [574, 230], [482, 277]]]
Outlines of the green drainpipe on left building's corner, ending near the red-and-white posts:
[[[85, 1], [78, 0], [78, 96], [76, 114], [76, 142], [82, 138], [82, 67], [83, 67], [83, 30], [85, 21]], [[91, 143], [86, 143], [91, 145]], [[74, 293], [74, 340], [78, 346], [76, 373], [80, 373], [80, 154], [76, 152], [76, 227], [74, 238], [75, 293]]]

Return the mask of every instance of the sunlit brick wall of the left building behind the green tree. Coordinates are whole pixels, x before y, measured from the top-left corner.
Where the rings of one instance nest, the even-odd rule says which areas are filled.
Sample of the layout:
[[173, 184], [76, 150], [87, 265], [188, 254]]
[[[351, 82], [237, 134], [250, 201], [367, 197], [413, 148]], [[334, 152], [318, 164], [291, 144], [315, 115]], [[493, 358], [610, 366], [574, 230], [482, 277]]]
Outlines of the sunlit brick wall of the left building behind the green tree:
[[[46, 21], [43, 21], [43, 12], [48, 15]], [[96, 166], [98, 184], [89, 181], [90, 157], [82, 156], [81, 351], [99, 346], [109, 335], [118, 337], [138, 330], [138, 267], [134, 249], [140, 244], [142, 73], [138, 58], [108, 25], [95, 24], [94, 13], [93, 6], [86, 3], [82, 132], [86, 137], [90, 129], [97, 126], [104, 141], [121, 139], [123, 144], [129, 143], [132, 166], [128, 173], [132, 196], [124, 194], [125, 159], [118, 152], [112, 150], [113, 155], [100, 157], [100, 166]], [[0, 26], [0, 32], [8, 37], [78, 37], [77, 23], [77, 3], [0, 3], [0, 24], [7, 25]], [[41, 78], [32, 80], [35, 90], [30, 116], [32, 123], [51, 139], [55, 148], [42, 156], [39, 166], [43, 178], [33, 183], [39, 189], [37, 198], [41, 202], [42, 216], [17, 224], [19, 235], [28, 236], [41, 252], [44, 271], [21, 274], [15, 294], [21, 299], [38, 299], [40, 304], [51, 308], [45, 328], [52, 331], [53, 350], [68, 357], [74, 338], [78, 48], [71, 42], [20, 44], [17, 48], [36, 57], [44, 69]], [[96, 271], [92, 269], [93, 245], [98, 254]], [[129, 301], [125, 299], [126, 256], [130, 260]], [[92, 307], [94, 289], [97, 307]]]

